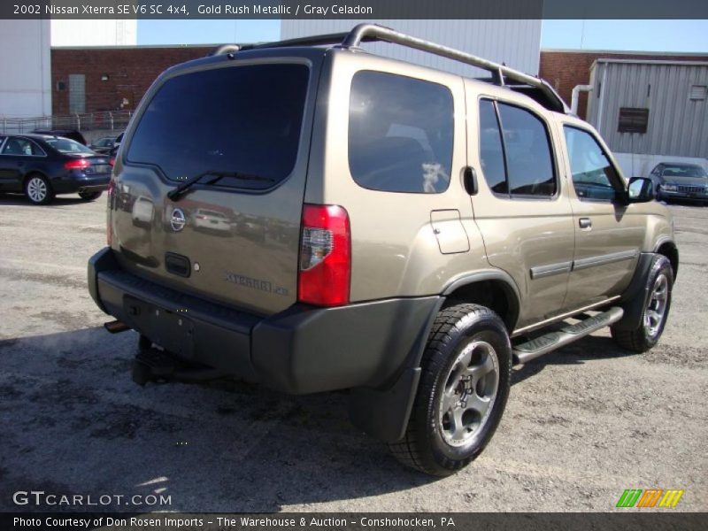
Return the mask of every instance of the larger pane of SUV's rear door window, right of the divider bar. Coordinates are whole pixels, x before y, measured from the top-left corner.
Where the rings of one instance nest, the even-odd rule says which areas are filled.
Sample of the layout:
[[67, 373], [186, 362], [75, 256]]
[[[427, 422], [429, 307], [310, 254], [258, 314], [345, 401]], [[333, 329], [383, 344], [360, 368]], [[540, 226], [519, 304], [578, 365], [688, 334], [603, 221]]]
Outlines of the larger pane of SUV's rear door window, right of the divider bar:
[[504, 152], [512, 195], [553, 196], [556, 178], [549, 135], [531, 112], [498, 104], [504, 131]]

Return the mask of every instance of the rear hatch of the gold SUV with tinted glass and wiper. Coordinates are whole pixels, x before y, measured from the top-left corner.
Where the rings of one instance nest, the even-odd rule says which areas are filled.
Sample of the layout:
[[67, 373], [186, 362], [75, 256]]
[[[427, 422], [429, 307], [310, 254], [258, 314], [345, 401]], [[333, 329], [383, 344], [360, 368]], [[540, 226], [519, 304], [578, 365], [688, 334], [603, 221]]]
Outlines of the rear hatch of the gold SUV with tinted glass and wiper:
[[322, 51], [302, 54], [203, 59], [156, 81], [116, 161], [109, 224], [121, 266], [262, 315], [296, 302]]

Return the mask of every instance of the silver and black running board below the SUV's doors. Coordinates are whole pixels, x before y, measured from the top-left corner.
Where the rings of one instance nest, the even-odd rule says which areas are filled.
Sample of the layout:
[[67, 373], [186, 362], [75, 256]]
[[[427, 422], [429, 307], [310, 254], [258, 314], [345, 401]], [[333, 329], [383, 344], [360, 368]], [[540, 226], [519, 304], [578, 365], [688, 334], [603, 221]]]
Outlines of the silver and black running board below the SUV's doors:
[[529, 342], [521, 343], [513, 348], [514, 361], [516, 363], [527, 363], [532, 359], [543, 356], [543, 354], [548, 354], [551, 350], [565, 347], [568, 343], [577, 341], [600, 328], [616, 323], [622, 319], [623, 314], [624, 310], [614, 306], [607, 312], [598, 313], [574, 325], [566, 325], [556, 332], [550, 332]]

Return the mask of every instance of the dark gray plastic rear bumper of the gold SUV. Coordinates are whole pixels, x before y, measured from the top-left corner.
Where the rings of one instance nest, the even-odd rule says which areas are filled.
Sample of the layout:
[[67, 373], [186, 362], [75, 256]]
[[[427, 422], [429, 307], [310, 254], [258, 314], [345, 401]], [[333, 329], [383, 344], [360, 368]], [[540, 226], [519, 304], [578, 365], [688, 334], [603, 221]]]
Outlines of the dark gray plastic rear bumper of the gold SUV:
[[264, 318], [137, 277], [108, 248], [89, 260], [89, 292], [104, 312], [158, 344], [169, 342], [170, 327], [183, 335], [175, 323], [185, 316], [185, 358], [291, 394], [392, 385], [415, 365], [439, 302], [427, 296], [338, 308], [294, 304]]

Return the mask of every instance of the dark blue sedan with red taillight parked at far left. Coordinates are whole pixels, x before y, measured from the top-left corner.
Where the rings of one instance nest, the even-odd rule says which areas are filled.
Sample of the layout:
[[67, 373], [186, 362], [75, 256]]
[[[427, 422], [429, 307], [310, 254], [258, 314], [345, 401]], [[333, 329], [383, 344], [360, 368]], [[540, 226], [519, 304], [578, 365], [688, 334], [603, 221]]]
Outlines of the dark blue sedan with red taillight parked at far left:
[[0, 135], [0, 191], [23, 192], [34, 204], [56, 194], [92, 201], [111, 180], [112, 158], [61, 136]]

